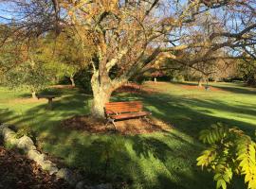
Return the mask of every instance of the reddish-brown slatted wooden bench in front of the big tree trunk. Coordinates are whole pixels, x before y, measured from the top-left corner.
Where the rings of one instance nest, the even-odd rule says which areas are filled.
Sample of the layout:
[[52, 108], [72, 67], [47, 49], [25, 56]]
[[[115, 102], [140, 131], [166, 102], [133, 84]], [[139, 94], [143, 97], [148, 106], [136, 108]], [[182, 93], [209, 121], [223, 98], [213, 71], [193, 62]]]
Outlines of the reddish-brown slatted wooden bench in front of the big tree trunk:
[[105, 116], [107, 123], [111, 122], [115, 127], [115, 120], [144, 117], [151, 112], [144, 112], [140, 101], [109, 102], [105, 104]]

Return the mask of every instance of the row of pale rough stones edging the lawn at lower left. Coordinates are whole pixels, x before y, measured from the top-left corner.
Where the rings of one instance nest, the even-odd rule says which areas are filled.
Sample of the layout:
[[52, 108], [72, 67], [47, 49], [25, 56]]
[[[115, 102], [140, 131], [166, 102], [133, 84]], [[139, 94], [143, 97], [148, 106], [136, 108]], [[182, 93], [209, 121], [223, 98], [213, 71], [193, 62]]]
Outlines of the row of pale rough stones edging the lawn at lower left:
[[110, 183], [101, 183], [96, 186], [88, 186], [82, 176], [72, 172], [68, 168], [58, 168], [55, 163], [46, 159], [46, 155], [36, 149], [34, 142], [28, 137], [23, 136], [19, 139], [16, 138], [16, 133], [9, 129], [9, 125], [0, 124], [0, 135], [3, 136], [4, 142], [12, 146], [24, 150], [27, 158], [38, 163], [43, 170], [48, 171], [50, 175], [55, 174], [57, 178], [66, 180], [70, 185], [75, 186], [76, 189], [112, 189]]

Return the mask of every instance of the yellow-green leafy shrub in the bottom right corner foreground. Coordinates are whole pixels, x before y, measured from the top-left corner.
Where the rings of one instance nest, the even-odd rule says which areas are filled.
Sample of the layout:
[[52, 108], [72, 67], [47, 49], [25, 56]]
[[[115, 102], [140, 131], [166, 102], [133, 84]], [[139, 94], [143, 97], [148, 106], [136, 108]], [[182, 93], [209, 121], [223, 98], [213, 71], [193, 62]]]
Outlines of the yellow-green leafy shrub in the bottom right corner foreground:
[[200, 132], [208, 148], [197, 158], [197, 165], [214, 173], [217, 188], [227, 188], [233, 174], [245, 176], [248, 189], [256, 189], [256, 144], [241, 129], [216, 124]]

